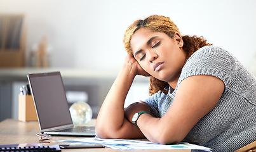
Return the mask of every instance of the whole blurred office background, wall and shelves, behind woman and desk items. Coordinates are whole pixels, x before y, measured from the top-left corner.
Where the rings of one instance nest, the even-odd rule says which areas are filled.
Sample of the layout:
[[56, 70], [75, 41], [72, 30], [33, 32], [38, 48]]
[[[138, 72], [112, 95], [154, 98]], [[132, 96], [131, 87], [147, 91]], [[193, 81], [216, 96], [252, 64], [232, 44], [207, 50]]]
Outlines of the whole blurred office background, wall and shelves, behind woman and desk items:
[[[86, 99], [96, 118], [126, 56], [126, 28], [154, 14], [169, 16], [182, 35], [203, 35], [256, 75], [255, 6], [254, 0], [0, 0], [0, 121], [18, 117], [27, 73], [56, 70], [69, 102]], [[148, 87], [148, 78], [137, 77], [126, 105], [147, 98]]]

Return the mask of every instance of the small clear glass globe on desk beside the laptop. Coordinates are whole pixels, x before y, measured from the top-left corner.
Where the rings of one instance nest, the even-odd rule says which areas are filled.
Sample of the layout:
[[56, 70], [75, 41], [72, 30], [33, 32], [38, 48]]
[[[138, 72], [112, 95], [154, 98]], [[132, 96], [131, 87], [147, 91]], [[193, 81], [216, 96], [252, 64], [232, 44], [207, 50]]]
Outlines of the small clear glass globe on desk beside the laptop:
[[76, 102], [69, 108], [71, 118], [74, 125], [84, 125], [90, 122], [93, 117], [93, 112], [90, 105], [84, 102]]

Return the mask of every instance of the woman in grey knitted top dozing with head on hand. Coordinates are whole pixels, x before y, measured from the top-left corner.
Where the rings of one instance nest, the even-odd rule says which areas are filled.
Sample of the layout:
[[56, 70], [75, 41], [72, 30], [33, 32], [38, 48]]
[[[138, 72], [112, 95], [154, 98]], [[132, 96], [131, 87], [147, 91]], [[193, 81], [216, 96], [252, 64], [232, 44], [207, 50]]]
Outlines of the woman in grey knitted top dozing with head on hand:
[[[182, 37], [158, 15], [130, 25], [124, 43], [128, 56], [98, 113], [98, 137], [187, 141], [213, 151], [256, 140], [256, 80], [234, 56], [202, 37]], [[150, 76], [152, 96], [124, 110], [136, 75]]]

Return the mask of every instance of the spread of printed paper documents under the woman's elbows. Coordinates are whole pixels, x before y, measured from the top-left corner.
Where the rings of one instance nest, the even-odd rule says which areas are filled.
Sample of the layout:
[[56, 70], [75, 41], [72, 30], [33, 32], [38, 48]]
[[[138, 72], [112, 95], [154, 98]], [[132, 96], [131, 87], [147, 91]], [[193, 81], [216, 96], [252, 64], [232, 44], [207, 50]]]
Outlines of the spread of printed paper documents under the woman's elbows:
[[189, 143], [179, 144], [156, 144], [150, 141], [128, 140], [128, 139], [100, 139], [98, 137], [71, 139], [55, 141], [57, 143], [75, 143], [75, 144], [102, 144], [105, 147], [119, 150], [154, 150], [154, 149], [198, 149], [203, 151], [211, 151], [210, 148], [198, 146]]

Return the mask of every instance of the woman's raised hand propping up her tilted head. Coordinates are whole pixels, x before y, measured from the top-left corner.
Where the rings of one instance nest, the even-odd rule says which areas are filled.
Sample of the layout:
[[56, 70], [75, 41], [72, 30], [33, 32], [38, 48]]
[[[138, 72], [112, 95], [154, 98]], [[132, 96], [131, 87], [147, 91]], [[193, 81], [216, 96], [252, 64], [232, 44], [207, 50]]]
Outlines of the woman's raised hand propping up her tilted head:
[[131, 66], [131, 69], [135, 70], [136, 75], [143, 75], [145, 77], [151, 76], [149, 73], [145, 72], [145, 70], [138, 64], [133, 56], [127, 55], [125, 58], [125, 63]]

